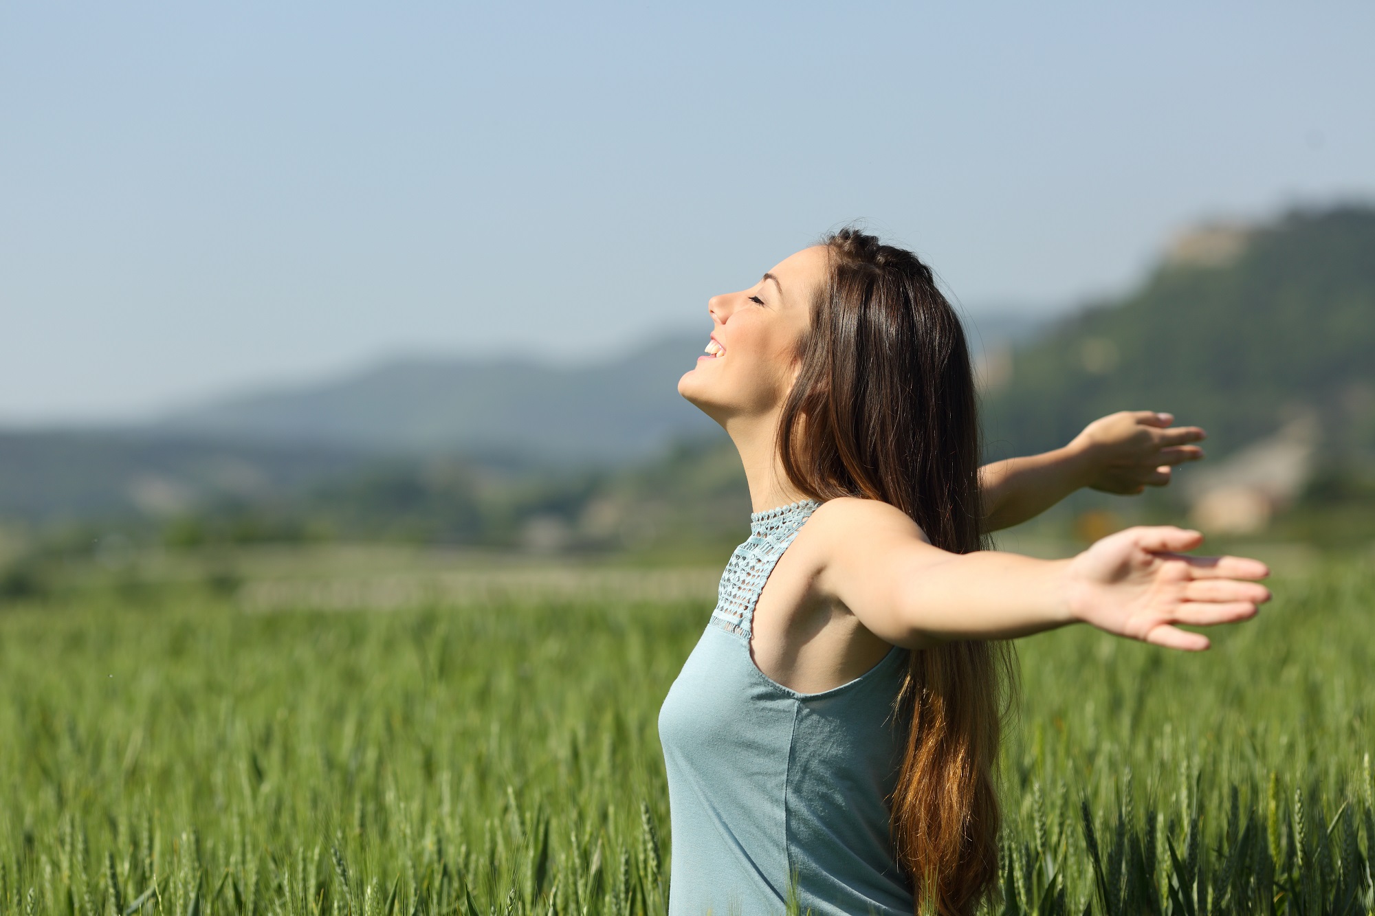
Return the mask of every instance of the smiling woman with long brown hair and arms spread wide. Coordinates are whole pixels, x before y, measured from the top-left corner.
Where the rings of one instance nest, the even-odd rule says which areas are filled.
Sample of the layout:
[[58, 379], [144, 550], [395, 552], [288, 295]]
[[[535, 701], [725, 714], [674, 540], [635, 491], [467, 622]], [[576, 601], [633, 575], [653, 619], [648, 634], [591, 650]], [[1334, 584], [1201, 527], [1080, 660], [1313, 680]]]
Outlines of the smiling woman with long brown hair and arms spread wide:
[[1163, 527], [1072, 560], [980, 550], [1079, 486], [1166, 483], [1202, 430], [1116, 414], [980, 472], [964, 334], [910, 252], [846, 230], [708, 309], [678, 391], [732, 436], [755, 513], [660, 712], [670, 912], [968, 913], [997, 873], [1000, 641], [1082, 622], [1206, 649], [1174, 624], [1251, 618], [1268, 572]]

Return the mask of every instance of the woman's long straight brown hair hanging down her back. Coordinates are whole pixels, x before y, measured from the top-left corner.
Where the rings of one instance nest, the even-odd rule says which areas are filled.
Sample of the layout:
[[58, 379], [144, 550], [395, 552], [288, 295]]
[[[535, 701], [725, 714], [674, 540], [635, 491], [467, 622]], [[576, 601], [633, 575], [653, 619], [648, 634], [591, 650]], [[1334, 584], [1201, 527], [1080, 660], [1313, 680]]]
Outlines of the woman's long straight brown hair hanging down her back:
[[[958, 316], [912, 252], [852, 228], [824, 243], [829, 276], [780, 421], [784, 472], [813, 499], [880, 499], [932, 545], [979, 550], [979, 422]], [[1001, 642], [910, 655], [890, 810], [918, 909], [964, 916], [997, 880], [994, 766], [1011, 675]]]

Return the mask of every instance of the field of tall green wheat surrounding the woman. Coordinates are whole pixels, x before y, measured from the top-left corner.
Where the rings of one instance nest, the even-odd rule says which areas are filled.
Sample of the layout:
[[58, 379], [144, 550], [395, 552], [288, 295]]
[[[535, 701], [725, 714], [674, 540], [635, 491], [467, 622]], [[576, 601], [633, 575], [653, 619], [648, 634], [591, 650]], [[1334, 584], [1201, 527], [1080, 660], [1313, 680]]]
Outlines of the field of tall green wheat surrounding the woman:
[[[1276, 582], [1202, 656], [1024, 641], [996, 910], [1370, 913], [1367, 565]], [[707, 602], [217, 587], [0, 609], [0, 913], [666, 909], [654, 723]]]

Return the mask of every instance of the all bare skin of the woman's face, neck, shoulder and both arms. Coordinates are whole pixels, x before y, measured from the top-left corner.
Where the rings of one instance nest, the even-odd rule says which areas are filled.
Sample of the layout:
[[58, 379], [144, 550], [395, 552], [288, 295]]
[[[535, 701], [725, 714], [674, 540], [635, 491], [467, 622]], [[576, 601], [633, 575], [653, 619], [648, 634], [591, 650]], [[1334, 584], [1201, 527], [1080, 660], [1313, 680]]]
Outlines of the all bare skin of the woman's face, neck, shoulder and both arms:
[[[781, 470], [777, 426], [796, 378], [798, 344], [826, 249], [807, 248], [758, 283], [708, 303], [708, 352], [678, 391], [730, 435], [755, 512], [803, 498]], [[1018, 524], [1081, 487], [1134, 494], [1167, 484], [1174, 465], [1202, 458], [1203, 430], [1155, 411], [1090, 424], [1064, 448], [980, 472], [989, 528]], [[1002, 640], [1070, 623], [1185, 651], [1207, 637], [1177, 624], [1250, 619], [1270, 594], [1265, 565], [1192, 557], [1203, 538], [1174, 527], [1128, 528], [1070, 560], [934, 547], [901, 510], [870, 499], [822, 505], [770, 575], [755, 608], [751, 655], [763, 674], [813, 693], [873, 667], [892, 645]]]

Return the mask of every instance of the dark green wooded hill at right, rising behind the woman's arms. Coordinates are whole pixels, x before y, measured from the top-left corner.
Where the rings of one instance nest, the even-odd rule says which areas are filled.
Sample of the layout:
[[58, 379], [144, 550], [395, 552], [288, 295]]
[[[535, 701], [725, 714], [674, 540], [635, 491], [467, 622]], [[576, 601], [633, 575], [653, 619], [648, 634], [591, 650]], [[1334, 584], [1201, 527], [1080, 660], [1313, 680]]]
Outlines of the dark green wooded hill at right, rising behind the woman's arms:
[[1221, 455], [1298, 417], [1326, 462], [1375, 457], [1375, 209], [1181, 235], [1141, 287], [1042, 330], [984, 396], [990, 452], [1067, 441], [1122, 408], [1169, 410]]

